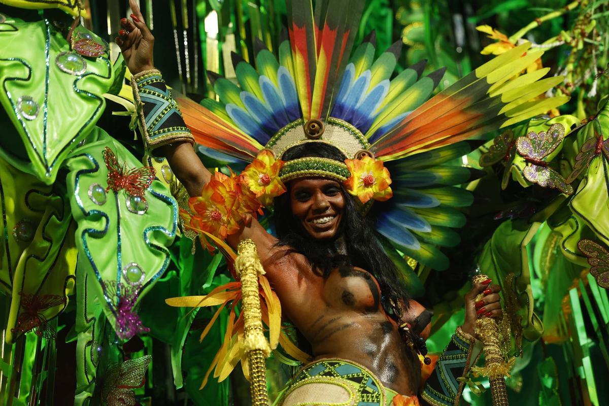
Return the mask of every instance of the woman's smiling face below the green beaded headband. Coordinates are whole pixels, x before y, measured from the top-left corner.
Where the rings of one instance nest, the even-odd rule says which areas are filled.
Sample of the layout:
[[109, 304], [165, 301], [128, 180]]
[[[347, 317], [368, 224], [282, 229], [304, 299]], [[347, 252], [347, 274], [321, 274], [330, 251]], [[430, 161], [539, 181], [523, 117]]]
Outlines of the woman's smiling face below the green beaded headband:
[[292, 214], [316, 240], [336, 236], [345, 208], [345, 197], [337, 181], [304, 178], [292, 181]]

